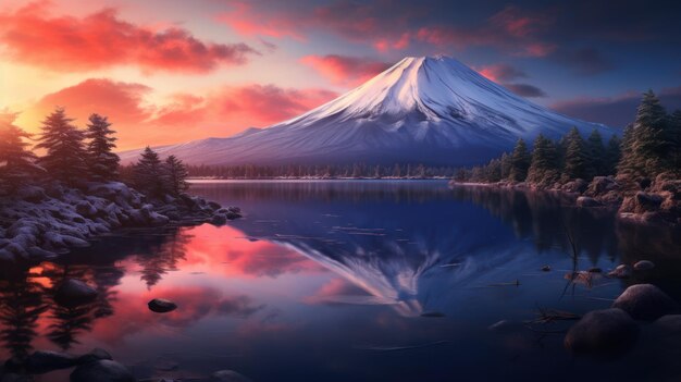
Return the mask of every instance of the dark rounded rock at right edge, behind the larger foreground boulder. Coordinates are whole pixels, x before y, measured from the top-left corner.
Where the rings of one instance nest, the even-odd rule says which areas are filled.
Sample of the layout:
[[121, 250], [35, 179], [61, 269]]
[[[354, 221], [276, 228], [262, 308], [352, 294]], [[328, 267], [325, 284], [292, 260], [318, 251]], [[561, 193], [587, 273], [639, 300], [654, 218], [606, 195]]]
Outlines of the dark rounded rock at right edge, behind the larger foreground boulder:
[[653, 321], [679, 311], [679, 305], [653, 284], [628, 287], [612, 303], [612, 308], [622, 309], [634, 319], [645, 321]]

